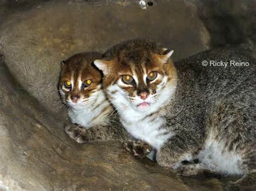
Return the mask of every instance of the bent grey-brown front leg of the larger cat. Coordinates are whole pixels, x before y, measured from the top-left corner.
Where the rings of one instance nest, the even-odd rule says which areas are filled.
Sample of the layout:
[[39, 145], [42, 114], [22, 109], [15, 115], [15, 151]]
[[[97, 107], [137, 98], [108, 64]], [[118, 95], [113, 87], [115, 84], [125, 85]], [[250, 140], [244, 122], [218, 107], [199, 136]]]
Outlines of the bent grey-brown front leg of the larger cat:
[[200, 138], [192, 138], [190, 135], [190, 132], [184, 132], [167, 140], [157, 151], [157, 163], [176, 171], [183, 166], [182, 161], [192, 161], [200, 147]]

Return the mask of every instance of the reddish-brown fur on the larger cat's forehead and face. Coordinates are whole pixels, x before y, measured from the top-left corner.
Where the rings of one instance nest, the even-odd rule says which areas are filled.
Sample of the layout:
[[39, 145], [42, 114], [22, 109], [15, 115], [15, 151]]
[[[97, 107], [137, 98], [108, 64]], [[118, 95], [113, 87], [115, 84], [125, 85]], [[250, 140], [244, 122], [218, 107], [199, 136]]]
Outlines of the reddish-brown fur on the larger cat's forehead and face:
[[117, 82], [123, 75], [132, 76], [133, 71], [135, 71], [138, 74], [138, 83], [140, 86], [136, 87], [136, 84], [133, 84], [133, 87], [123, 87], [123, 89], [129, 93], [129, 96], [135, 96], [145, 90], [153, 95], [161, 80], [156, 80], [154, 83], [150, 83], [146, 86], [143, 76], [140, 75], [144, 70], [146, 70], [147, 74], [152, 71], [157, 71], [158, 74], [162, 76], [164, 74], [169, 75], [171, 76], [169, 81], [175, 83], [175, 81], [177, 81], [177, 72], [172, 60], [170, 59], [169, 64], [166, 65], [161, 63], [161, 56], [163, 56], [165, 52], [165, 48], [162, 48], [160, 44], [154, 43], [151, 40], [136, 40], [129, 45], [116, 45], [103, 56], [103, 60], [107, 63], [111, 72], [110, 75], [104, 76], [104, 88]]

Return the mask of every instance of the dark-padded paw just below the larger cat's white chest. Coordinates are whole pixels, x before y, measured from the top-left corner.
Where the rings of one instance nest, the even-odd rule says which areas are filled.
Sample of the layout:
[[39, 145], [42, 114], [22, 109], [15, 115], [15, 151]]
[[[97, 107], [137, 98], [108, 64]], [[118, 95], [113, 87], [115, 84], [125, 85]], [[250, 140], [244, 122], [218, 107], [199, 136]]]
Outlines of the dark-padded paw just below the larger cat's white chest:
[[123, 147], [137, 158], [145, 158], [153, 150], [152, 146], [143, 141], [129, 140], [123, 143]]

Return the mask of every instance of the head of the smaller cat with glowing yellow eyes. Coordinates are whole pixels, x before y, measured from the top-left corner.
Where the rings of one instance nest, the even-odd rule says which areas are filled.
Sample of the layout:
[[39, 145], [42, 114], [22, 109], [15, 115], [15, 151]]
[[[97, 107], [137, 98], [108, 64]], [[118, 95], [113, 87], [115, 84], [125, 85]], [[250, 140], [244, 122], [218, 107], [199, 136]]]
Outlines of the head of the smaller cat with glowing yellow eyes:
[[79, 53], [63, 61], [58, 88], [66, 105], [79, 109], [92, 103], [102, 82], [102, 74], [92, 62], [101, 56], [100, 53]]

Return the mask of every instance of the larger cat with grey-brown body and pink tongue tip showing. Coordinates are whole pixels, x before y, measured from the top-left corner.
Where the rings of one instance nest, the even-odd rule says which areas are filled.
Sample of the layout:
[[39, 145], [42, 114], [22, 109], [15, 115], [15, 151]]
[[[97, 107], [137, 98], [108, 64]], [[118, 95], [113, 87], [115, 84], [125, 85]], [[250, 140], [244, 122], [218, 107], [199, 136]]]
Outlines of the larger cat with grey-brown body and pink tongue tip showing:
[[[120, 121], [157, 150], [161, 166], [185, 174], [206, 168], [247, 175], [233, 186], [255, 181], [255, 61], [221, 49], [174, 65], [172, 53], [151, 40], [131, 40], [94, 62], [104, 73], [103, 87]], [[201, 64], [232, 59], [250, 66]], [[199, 164], [181, 164], [194, 159]]]

